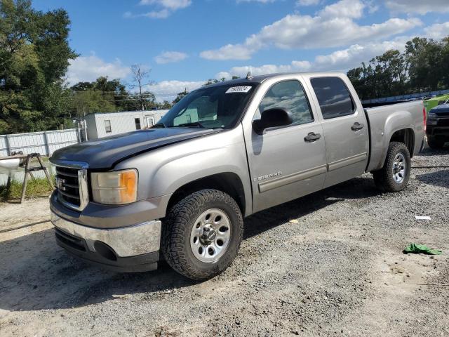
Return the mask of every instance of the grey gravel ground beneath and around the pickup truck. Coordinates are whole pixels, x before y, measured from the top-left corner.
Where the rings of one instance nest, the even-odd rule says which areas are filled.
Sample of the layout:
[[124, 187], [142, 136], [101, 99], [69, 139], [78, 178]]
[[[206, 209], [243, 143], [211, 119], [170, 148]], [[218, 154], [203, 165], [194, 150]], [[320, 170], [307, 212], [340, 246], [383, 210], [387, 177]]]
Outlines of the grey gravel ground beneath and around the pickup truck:
[[[448, 166], [449, 152], [424, 150], [413, 165]], [[36, 219], [25, 206], [12, 225], [41, 221], [47, 202], [28, 201]], [[246, 219], [234, 264], [202, 283], [165, 265], [86, 265], [49, 223], [0, 231], [0, 335], [449, 336], [448, 204], [449, 168], [413, 169], [396, 194], [367, 174]], [[410, 242], [443, 255], [404, 255]]]

